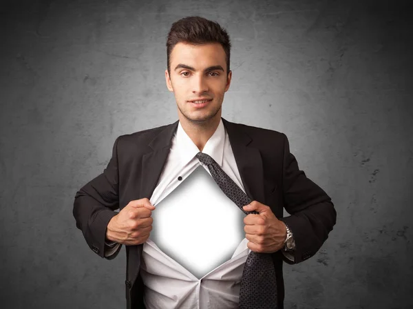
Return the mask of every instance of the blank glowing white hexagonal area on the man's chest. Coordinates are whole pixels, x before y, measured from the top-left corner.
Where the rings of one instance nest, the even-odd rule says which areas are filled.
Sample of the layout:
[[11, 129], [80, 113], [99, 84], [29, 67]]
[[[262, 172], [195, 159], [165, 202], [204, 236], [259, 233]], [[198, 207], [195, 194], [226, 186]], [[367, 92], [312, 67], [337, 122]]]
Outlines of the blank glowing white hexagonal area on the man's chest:
[[149, 239], [202, 277], [231, 259], [245, 238], [245, 214], [199, 166], [152, 211]]

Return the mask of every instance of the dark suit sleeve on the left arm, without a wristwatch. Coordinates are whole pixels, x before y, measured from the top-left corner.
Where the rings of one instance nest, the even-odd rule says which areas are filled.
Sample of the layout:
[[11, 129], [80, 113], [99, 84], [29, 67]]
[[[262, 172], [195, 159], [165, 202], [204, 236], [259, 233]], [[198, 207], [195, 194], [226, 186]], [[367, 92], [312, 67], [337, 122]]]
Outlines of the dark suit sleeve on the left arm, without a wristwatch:
[[[110, 219], [117, 215], [119, 208], [118, 137], [112, 148], [112, 158], [103, 173], [85, 184], [74, 197], [73, 215], [76, 228], [83, 232], [89, 248], [100, 257], [114, 259], [120, 247], [113, 254], [105, 245], [106, 228]], [[112, 253], [112, 252], [111, 252]]]

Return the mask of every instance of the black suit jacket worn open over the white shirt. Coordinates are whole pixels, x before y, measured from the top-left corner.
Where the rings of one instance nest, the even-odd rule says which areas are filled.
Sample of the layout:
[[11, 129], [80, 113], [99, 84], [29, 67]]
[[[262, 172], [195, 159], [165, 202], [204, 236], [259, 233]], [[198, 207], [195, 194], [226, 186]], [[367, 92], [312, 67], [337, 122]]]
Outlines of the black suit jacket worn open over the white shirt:
[[[269, 206], [284, 221], [295, 238], [295, 262], [317, 252], [336, 223], [330, 197], [299, 170], [290, 153], [286, 135], [275, 130], [255, 128], [222, 118], [242, 184], [251, 199]], [[121, 135], [114, 142], [112, 158], [102, 174], [85, 184], [74, 198], [73, 215], [91, 248], [104, 256], [107, 224], [129, 201], [151, 198], [166, 163], [178, 121], [133, 134]], [[283, 208], [290, 214], [283, 216]], [[122, 246], [114, 255], [114, 259]], [[127, 308], [145, 308], [140, 260], [143, 244], [126, 248]], [[272, 254], [277, 274], [278, 308], [284, 308], [282, 252]]]

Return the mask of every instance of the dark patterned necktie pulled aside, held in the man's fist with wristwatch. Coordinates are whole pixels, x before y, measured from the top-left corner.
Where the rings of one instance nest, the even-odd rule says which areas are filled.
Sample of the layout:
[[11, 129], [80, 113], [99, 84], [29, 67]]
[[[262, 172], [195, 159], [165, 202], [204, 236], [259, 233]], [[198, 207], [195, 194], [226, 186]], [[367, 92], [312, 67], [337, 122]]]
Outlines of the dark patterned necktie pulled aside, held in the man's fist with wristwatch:
[[[253, 201], [226, 175], [209, 155], [198, 152], [196, 157], [209, 168], [209, 172], [221, 190], [246, 215], [258, 214], [242, 209]], [[240, 287], [240, 309], [277, 309], [277, 282], [270, 253], [251, 251], [246, 258]]]

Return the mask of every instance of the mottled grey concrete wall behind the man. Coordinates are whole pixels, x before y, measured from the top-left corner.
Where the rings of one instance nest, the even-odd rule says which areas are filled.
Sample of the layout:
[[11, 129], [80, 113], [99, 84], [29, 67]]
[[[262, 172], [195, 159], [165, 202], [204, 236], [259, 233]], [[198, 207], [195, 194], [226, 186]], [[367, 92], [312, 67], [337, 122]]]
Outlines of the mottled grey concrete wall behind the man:
[[[125, 250], [89, 250], [75, 192], [114, 140], [178, 119], [167, 32], [231, 35], [222, 116], [279, 130], [338, 218], [284, 264], [286, 308], [412, 308], [410, 1], [9, 1], [0, 15], [2, 308], [125, 308]], [[6, 306], [4, 306], [6, 304]]]

